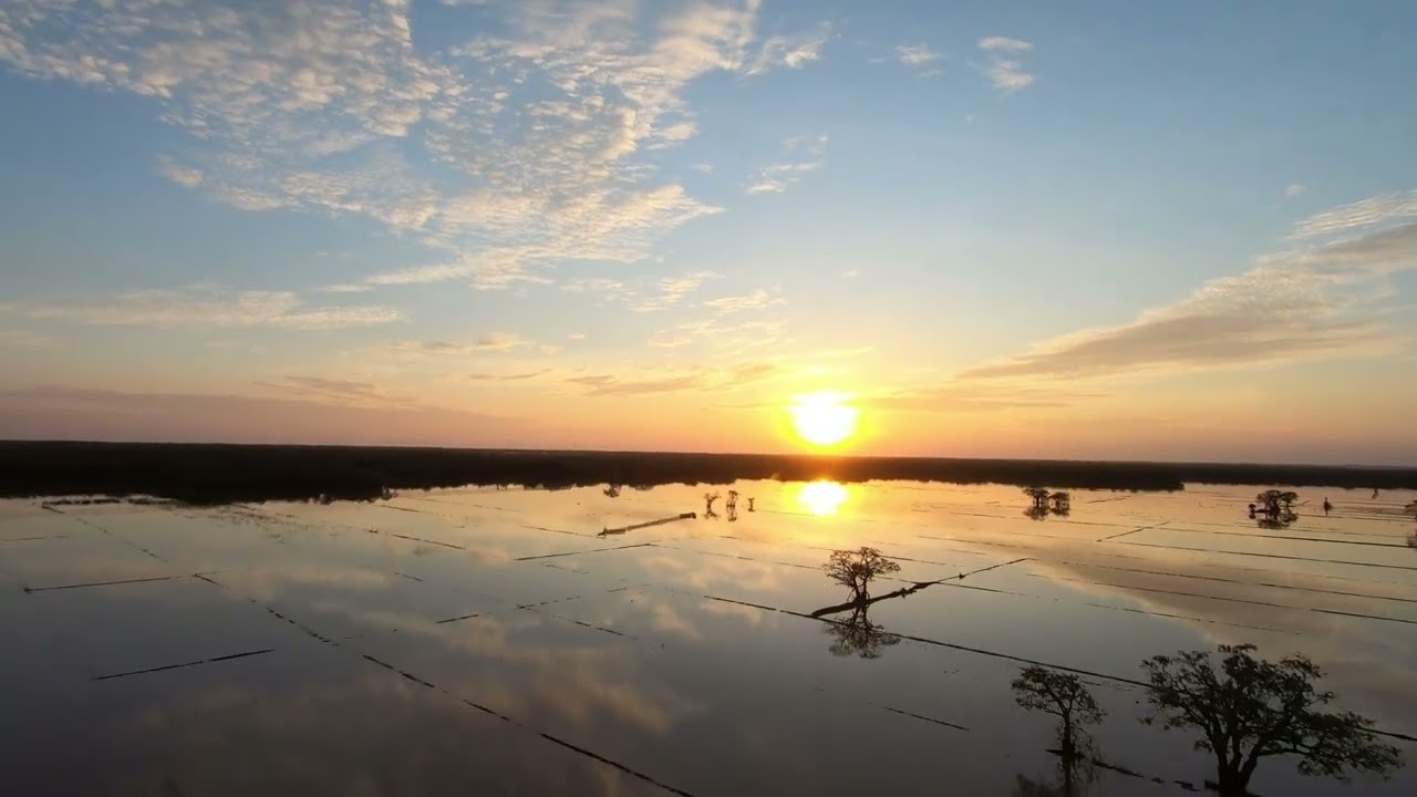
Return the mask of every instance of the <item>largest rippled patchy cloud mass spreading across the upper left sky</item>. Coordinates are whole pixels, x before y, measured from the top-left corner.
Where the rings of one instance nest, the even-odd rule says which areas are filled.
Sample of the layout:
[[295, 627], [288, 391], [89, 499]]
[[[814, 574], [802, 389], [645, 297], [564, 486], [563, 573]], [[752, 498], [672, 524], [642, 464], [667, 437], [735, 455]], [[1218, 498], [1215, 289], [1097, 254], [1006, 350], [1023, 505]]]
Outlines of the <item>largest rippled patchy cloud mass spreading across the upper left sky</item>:
[[439, 252], [370, 285], [504, 289], [560, 261], [640, 260], [721, 211], [652, 153], [696, 136], [694, 81], [819, 58], [829, 27], [760, 41], [758, 6], [479, 3], [446, 13], [483, 33], [431, 50], [405, 0], [16, 0], [0, 62], [146, 98], [187, 135], [157, 160], [179, 186], [363, 216]]

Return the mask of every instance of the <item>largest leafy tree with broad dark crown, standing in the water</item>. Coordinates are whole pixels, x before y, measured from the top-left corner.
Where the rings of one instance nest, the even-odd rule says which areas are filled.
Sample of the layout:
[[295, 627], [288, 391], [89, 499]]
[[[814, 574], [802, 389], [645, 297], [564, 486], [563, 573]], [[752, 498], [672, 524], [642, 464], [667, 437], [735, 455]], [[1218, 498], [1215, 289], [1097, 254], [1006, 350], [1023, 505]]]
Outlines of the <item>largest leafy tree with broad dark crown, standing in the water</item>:
[[1153, 716], [1162, 728], [1200, 732], [1197, 750], [1216, 756], [1220, 797], [1248, 794], [1260, 759], [1297, 756], [1305, 776], [1348, 780], [1349, 771], [1387, 776], [1403, 766], [1396, 747], [1373, 733], [1373, 720], [1353, 712], [1325, 712], [1333, 692], [1319, 692], [1323, 672], [1308, 658], [1270, 662], [1254, 645], [1220, 645], [1219, 671], [1210, 651], [1180, 651], [1142, 662], [1151, 678]]

